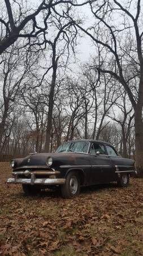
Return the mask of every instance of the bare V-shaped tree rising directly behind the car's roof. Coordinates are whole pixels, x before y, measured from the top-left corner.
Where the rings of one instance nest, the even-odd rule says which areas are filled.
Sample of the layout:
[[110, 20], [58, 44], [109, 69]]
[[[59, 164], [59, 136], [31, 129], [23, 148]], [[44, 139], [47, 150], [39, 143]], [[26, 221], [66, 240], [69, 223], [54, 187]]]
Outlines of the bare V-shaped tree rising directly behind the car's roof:
[[92, 61], [84, 66], [83, 75], [90, 91], [88, 98], [90, 101], [93, 99], [92, 117], [94, 118], [94, 126], [91, 137], [99, 139], [101, 131], [109, 123], [107, 116], [121, 94], [117, 90], [118, 86], [115, 85], [115, 80], [110, 76], [105, 76], [105, 74], [99, 74], [92, 65]]

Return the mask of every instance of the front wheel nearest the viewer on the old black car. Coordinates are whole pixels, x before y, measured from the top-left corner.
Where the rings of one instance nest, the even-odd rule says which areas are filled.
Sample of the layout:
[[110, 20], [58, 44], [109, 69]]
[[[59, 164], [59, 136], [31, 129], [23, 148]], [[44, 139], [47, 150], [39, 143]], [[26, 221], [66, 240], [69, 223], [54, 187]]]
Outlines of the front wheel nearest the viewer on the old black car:
[[72, 198], [80, 193], [80, 177], [76, 172], [70, 172], [66, 177], [66, 183], [61, 185], [63, 198]]

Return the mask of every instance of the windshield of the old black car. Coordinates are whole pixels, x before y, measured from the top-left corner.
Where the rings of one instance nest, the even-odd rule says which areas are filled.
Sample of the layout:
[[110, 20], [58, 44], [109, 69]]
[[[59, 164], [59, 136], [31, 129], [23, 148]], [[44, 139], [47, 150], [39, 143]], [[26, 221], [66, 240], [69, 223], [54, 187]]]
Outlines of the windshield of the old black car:
[[89, 147], [89, 142], [79, 141], [79, 142], [67, 142], [60, 145], [56, 152], [83, 152], [87, 153]]

